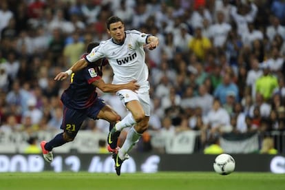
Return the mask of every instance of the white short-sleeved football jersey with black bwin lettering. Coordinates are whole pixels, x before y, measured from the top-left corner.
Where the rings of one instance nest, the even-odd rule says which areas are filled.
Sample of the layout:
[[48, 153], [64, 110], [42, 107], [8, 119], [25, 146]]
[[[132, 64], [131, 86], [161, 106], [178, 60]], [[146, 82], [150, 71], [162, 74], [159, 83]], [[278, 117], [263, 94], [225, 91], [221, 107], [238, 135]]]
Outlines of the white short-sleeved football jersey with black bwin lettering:
[[94, 62], [105, 57], [114, 72], [113, 84], [128, 83], [136, 79], [139, 85], [146, 85], [149, 70], [145, 64], [143, 45], [147, 43], [149, 34], [137, 30], [127, 30], [125, 34], [123, 45], [114, 43], [113, 39], [103, 41], [86, 56], [86, 59]]

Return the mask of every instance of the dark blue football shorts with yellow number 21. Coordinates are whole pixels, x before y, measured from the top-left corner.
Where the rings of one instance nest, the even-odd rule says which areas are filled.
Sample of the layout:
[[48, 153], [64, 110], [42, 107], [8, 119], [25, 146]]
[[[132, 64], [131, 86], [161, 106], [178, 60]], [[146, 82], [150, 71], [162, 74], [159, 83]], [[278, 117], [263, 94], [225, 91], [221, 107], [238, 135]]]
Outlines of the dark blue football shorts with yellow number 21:
[[96, 120], [98, 113], [105, 105], [105, 101], [98, 97], [94, 104], [87, 109], [70, 109], [63, 106], [61, 129], [67, 132], [69, 136], [75, 137], [83, 121], [86, 118]]

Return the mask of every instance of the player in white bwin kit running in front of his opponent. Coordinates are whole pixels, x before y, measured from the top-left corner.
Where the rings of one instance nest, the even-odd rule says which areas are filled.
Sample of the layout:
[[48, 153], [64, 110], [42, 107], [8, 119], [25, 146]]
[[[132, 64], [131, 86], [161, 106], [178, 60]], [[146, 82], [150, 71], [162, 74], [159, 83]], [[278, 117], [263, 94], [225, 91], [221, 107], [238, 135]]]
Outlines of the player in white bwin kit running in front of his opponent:
[[[88, 63], [105, 57], [114, 72], [113, 84], [124, 84], [137, 80], [138, 85], [140, 85], [137, 92], [132, 92], [129, 89], [116, 92], [130, 113], [116, 123], [107, 138], [109, 151], [113, 152], [116, 173], [120, 176], [120, 167], [125, 160], [125, 155], [134, 147], [148, 127], [150, 98], [147, 78], [149, 70], [145, 64], [144, 47], [154, 50], [159, 41], [156, 36], [137, 30], [125, 31], [125, 25], [119, 17], [110, 17], [107, 20], [107, 32], [112, 37], [111, 39], [101, 42], [85, 59], [78, 60], [69, 70], [57, 74], [54, 79], [63, 80], [72, 72], [86, 67]], [[131, 127], [131, 129], [129, 129], [122, 147], [118, 149], [116, 148], [118, 136], [125, 127]]]

